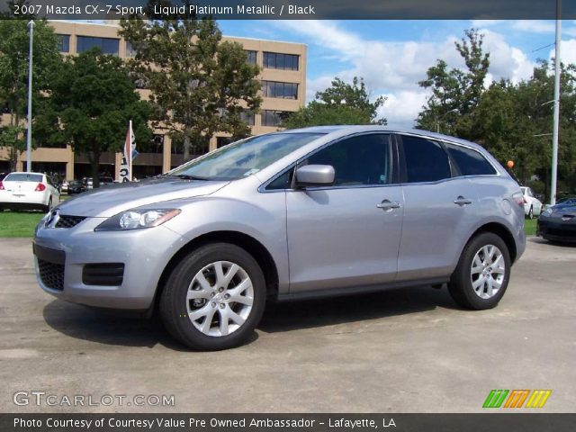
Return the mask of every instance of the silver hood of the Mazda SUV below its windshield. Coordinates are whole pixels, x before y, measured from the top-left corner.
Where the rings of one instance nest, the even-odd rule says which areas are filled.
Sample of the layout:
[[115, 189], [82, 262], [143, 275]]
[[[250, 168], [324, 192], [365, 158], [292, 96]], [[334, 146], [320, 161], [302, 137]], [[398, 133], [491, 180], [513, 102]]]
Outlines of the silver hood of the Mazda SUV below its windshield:
[[109, 218], [155, 202], [209, 195], [229, 184], [227, 181], [153, 178], [141, 182], [112, 184], [93, 189], [58, 204], [62, 214]]

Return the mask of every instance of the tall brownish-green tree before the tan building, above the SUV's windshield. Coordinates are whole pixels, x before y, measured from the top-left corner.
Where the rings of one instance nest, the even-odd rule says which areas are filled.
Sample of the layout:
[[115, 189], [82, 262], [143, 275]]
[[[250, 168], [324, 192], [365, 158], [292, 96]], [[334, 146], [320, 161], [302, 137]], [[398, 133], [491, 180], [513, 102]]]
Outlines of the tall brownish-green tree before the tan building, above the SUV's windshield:
[[249, 135], [242, 114], [257, 112], [262, 102], [259, 68], [247, 63], [240, 44], [222, 42], [213, 20], [188, 14], [153, 22], [134, 17], [122, 20], [121, 28], [136, 52], [133, 76], [151, 91], [153, 125], [184, 142], [184, 160], [207, 148], [216, 132]]

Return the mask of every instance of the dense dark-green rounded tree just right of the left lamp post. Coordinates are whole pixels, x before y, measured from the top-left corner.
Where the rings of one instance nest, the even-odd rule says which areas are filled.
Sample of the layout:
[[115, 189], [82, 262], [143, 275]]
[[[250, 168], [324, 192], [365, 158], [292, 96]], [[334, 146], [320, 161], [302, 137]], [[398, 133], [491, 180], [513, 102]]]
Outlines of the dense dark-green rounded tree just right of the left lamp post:
[[99, 185], [100, 157], [121, 151], [128, 121], [139, 148], [151, 139], [148, 103], [141, 101], [121, 58], [91, 49], [68, 57], [53, 77], [52, 95], [42, 105], [39, 134], [48, 145], [66, 143], [90, 161], [94, 187]]

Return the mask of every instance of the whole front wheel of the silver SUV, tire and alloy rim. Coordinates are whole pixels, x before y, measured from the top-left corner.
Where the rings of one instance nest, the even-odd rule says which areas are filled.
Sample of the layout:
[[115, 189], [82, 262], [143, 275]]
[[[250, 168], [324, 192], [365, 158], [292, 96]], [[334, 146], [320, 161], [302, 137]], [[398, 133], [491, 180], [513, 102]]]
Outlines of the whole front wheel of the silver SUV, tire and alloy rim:
[[175, 266], [160, 298], [170, 334], [187, 347], [237, 347], [254, 332], [266, 305], [266, 283], [244, 249], [215, 243], [193, 250]]

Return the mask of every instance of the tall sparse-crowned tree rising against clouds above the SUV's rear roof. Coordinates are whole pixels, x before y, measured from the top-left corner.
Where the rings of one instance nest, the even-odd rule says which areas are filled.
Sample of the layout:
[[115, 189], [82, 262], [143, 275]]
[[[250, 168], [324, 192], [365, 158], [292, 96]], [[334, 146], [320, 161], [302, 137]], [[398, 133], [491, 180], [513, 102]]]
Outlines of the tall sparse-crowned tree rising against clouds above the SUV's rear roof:
[[466, 70], [449, 69], [446, 61], [439, 59], [436, 66], [428, 68], [427, 78], [419, 82], [432, 92], [417, 119], [421, 129], [471, 138], [470, 115], [480, 103], [490, 54], [483, 52], [483, 35], [479, 31], [470, 29], [464, 34], [460, 42], [455, 42], [455, 49], [464, 58]]

